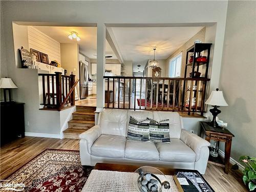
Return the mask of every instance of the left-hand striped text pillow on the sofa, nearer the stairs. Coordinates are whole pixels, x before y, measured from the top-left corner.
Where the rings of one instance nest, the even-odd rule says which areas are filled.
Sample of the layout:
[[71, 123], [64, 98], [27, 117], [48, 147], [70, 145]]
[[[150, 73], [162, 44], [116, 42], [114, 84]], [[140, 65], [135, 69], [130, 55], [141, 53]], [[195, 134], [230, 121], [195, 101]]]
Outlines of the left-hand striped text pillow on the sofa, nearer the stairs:
[[143, 121], [138, 121], [134, 117], [130, 117], [127, 139], [137, 140], [137, 141], [148, 141], [150, 134], [150, 119], [145, 119]]

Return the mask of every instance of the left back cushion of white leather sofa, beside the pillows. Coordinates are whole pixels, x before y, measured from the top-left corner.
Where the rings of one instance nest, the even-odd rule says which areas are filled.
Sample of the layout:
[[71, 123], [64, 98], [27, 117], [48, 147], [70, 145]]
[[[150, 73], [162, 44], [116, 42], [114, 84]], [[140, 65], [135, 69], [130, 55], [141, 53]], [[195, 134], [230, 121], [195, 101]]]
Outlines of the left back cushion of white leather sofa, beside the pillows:
[[126, 136], [127, 110], [104, 109], [99, 118], [101, 134]]

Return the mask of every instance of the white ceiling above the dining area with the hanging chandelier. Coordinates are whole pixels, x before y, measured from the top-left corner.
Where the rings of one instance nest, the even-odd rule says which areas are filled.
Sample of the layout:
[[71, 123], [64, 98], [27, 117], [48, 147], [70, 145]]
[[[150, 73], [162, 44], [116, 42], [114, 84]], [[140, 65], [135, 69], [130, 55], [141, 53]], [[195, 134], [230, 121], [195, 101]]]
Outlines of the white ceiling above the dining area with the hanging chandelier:
[[[143, 71], [146, 61], [166, 59], [203, 27], [113, 27], [124, 60], [132, 60], [134, 71]], [[137, 65], [141, 65], [138, 69]]]

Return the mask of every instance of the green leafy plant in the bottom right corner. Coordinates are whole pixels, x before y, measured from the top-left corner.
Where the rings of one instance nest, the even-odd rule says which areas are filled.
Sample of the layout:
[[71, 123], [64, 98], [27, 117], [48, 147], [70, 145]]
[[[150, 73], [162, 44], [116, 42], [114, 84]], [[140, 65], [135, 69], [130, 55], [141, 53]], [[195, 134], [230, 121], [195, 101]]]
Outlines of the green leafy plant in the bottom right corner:
[[241, 156], [239, 159], [245, 164], [243, 170], [243, 181], [247, 185], [250, 191], [256, 189], [256, 158], [250, 156]]

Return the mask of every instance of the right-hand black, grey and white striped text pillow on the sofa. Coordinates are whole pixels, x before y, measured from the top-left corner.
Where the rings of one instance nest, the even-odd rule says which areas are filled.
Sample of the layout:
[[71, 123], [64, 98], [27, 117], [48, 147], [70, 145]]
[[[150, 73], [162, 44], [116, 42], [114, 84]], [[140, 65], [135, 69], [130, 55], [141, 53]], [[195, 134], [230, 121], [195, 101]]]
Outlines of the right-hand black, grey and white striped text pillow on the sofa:
[[150, 141], [154, 143], [170, 142], [169, 119], [150, 121]]

